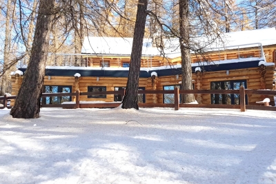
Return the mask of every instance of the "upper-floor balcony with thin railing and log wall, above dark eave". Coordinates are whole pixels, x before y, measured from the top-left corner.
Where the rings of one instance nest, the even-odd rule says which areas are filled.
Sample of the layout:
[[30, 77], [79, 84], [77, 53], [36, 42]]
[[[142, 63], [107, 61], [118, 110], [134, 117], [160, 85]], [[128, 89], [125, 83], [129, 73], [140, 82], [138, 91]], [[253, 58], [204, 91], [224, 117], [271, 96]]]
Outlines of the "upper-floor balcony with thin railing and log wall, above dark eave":
[[[266, 62], [266, 51], [261, 43], [233, 45], [226, 48], [214, 48], [204, 54], [191, 54], [192, 63], [197, 65], [212, 65], [219, 63], [237, 63], [243, 61], [262, 60]], [[180, 53], [173, 57], [142, 55], [141, 68], [173, 67], [181, 64]], [[26, 68], [24, 59], [20, 68]], [[51, 67], [85, 67], [85, 68], [129, 68], [130, 55], [121, 54], [48, 54], [47, 66]], [[193, 64], [192, 64], [193, 65]]]

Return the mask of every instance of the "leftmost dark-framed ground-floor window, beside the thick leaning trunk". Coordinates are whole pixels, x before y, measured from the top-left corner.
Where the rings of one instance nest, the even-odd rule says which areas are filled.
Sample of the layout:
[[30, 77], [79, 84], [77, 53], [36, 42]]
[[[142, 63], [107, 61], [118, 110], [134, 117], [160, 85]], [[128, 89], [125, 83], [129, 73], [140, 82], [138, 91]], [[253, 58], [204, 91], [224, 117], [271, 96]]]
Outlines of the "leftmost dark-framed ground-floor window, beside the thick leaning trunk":
[[[43, 92], [45, 93], [58, 93], [58, 92], [72, 92], [72, 86], [66, 85], [44, 85]], [[65, 101], [72, 101], [72, 96], [48, 96], [41, 98], [42, 104], [61, 104]]]

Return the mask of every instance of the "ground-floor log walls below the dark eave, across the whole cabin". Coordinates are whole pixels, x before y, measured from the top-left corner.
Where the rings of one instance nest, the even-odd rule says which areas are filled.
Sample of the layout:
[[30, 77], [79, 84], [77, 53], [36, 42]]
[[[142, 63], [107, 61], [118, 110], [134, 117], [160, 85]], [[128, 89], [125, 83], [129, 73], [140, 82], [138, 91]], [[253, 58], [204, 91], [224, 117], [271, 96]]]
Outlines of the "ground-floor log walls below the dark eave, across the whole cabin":
[[[265, 74], [265, 88], [273, 89], [273, 74], [274, 67], [266, 66]], [[20, 85], [22, 83], [22, 76], [12, 76], [12, 95], [17, 95]], [[226, 71], [219, 72], [205, 72], [200, 76], [200, 80], [196, 74], [193, 74], [193, 83], [195, 84], [195, 89], [201, 88], [202, 90], [210, 90], [210, 83], [212, 81], [237, 81], [237, 80], [246, 80], [247, 88], [253, 90], [262, 89], [262, 74], [260, 68], [248, 68], [248, 69], [239, 69], [239, 70], [230, 70], [229, 74], [226, 74]], [[76, 82], [78, 84], [76, 85]], [[178, 76], [159, 76], [158, 81], [155, 81], [156, 90], [163, 90], [165, 85], [181, 85], [181, 75]], [[200, 81], [200, 85], [199, 85]], [[45, 76], [44, 85], [68, 85], [72, 86], [72, 92], [75, 92], [77, 88], [81, 92], [87, 92], [88, 86], [105, 86], [107, 91], [115, 90], [115, 87], [125, 87], [127, 78], [114, 78], [114, 77], [86, 77], [81, 76], [79, 79], [75, 79], [75, 76], [51, 76], [50, 79], [48, 76]], [[146, 90], [152, 90], [152, 79], [151, 78], [141, 78], [139, 80], [139, 87], [145, 87]], [[264, 98], [270, 98], [270, 101], [274, 101], [273, 96], [261, 96], [257, 94], [248, 95], [248, 104], [255, 105], [256, 101], [262, 101]], [[197, 96], [196, 96], [197, 99]], [[200, 95], [201, 103], [210, 104], [210, 94], [201, 94]], [[106, 98], [88, 98], [88, 96], [81, 96], [81, 101], [114, 101], [114, 95], [109, 94]], [[163, 103], [163, 94], [146, 94], [146, 103]], [[72, 101], [75, 101], [75, 97], [72, 98]], [[11, 103], [13, 105], [13, 101]]]

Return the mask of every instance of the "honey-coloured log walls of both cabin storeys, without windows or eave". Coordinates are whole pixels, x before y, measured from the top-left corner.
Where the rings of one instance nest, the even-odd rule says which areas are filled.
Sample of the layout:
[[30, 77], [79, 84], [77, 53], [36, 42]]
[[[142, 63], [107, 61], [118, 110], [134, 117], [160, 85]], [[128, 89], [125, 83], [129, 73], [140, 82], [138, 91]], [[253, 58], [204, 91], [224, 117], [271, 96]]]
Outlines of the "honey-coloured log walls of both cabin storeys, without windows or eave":
[[[276, 45], [273, 46], [264, 46], [264, 53], [267, 62], [273, 62], [273, 52], [276, 50]], [[259, 50], [257, 48], [245, 48], [239, 50], [239, 54], [254, 54], [255, 57], [259, 57]], [[226, 50], [224, 52], [220, 52], [219, 55], [216, 52], [210, 52], [206, 57], [210, 57], [210, 60], [224, 60], [224, 59], [237, 59], [238, 54], [237, 50]], [[110, 67], [112, 68], [121, 68], [123, 63], [129, 63], [130, 57], [105, 57], [104, 61], [110, 62]], [[196, 56], [192, 56], [192, 61], [196, 61], [198, 58]], [[87, 59], [88, 66], [90, 67], [99, 67], [102, 62], [102, 57], [89, 57]], [[149, 57], [142, 57], [141, 59], [141, 67], [148, 68], [158, 67], [158, 66], [168, 66], [180, 64], [181, 58], [175, 59], [164, 59], [163, 57], [153, 57], [151, 59]], [[262, 88], [265, 89], [273, 89], [273, 74], [276, 74], [273, 70], [273, 66], [267, 66], [265, 74], [262, 76], [259, 68], [250, 68], [250, 69], [241, 69], [241, 70], [230, 70], [230, 73], [226, 75], [226, 71], [219, 72], [206, 72], [201, 74], [200, 81], [201, 84], [198, 83], [199, 76], [195, 76], [193, 74], [193, 80], [195, 80], [195, 89], [198, 89], [199, 86], [203, 90], [210, 89], [211, 81], [227, 81], [227, 80], [242, 80], [245, 79], [247, 81], [248, 89], [259, 90]], [[12, 76], [12, 95], [16, 95], [19, 91], [19, 87], [22, 83], [22, 76]], [[76, 85], [76, 79], [74, 76], [51, 76], [51, 79], [48, 79], [48, 76], [45, 77], [44, 85], [71, 85], [72, 92], [75, 92], [76, 86], [79, 87], [81, 92], [87, 92], [88, 86], [106, 86], [106, 90], [114, 90], [115, 87], [124, 87], [126, 86], [127, 78], [112, 78], [112, 77], [99, 77], [99, 81], [97, 81], [97, 77], [80, 77], [78, 79], [79, 85]], [[156, 83], [156, 90], [163, 90], [164, 85], [179, 85], [179, 81], [181, 81], [181, 75], [177, 79], [177, 76], [161, 76], [158, 77], [158, 82]], [[265, 87], [264, 87], [265, 82]], [[145, 87], [146, 90], [152, 90], [152, 79], [140, 79], [139, 86]], [[260, 101], [264, 98], [264, 96], [259, 95], [248, 95], [249, 104], [255, 104], [255, 101]], [[163, 94], [157, 94], [157, 96], [153, 96], [152, 94], [146, 94], [146, 103], [153, 103], [153, 99], [157, 101], [157, 103], [163, 103]], [[197, 96], [196, 96], [197, 99]], [[201, 103], [210, 104], [210, 95], [202, 94], [200, 96]], [[72, 100], [75, 100], [74, 98]], [[274, 101], [273, 99], [270, 100]], [[87, 96], [82, 96], [81, 101], [113, 101], [113, 95], [107, 95], [106, 99], [94, 99], [87, 98]]]

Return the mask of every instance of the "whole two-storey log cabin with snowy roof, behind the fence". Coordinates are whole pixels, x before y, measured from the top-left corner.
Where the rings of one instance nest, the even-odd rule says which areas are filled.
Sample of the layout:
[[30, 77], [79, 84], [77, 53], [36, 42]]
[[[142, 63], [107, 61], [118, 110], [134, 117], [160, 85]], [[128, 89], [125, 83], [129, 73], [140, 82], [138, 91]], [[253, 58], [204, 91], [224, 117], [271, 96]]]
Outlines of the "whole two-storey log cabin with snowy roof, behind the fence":
[[[164, 43], [166, 57], [152, 39], [144, 39], [139, 90], [173, 90], [181, 84], [181, 54], [177, 40]], [[126, 87], [132, 39], [86, 37], [82, 53], [50, 54], [44, 92], [95, 92]], [[225, 35], [224, 46], [213, 45], [204, 57], [192, 53], [193, 88], [196, 90], [275, 90], [276, 30], [246, 30]], [[18, 68], [26, 71], [26, 66]], [[24, 75], [12, 72], [12, 95], [19, 91]], [[172, 103], [173, 94], [139, 94], [140, 103]], [[248, 95], [246, 103], [273, 96]], [[198, 103], [239, 104], [238, 95], [195, 94]], [[81, 96], [81, 101], [121, 101], [121, 95]], [[42, 103], [75, 101], [74, 97], [46, 98]]]

